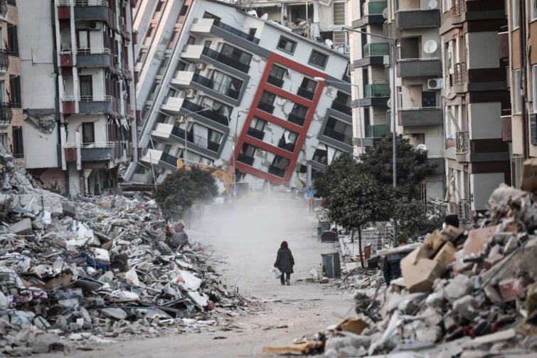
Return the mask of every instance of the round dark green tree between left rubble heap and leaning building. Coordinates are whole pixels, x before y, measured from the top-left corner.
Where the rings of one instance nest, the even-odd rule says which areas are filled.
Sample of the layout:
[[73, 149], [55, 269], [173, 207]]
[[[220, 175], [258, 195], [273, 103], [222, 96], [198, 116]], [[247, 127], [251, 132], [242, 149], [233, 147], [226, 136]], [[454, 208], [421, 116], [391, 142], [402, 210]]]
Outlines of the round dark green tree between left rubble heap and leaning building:
[[168, 219], [188, 210], [196, 201], [211, 201], [218, 195], [218, 186], [210, 171], [192, 167], [169, 174], [156, 186], [153, 199]]

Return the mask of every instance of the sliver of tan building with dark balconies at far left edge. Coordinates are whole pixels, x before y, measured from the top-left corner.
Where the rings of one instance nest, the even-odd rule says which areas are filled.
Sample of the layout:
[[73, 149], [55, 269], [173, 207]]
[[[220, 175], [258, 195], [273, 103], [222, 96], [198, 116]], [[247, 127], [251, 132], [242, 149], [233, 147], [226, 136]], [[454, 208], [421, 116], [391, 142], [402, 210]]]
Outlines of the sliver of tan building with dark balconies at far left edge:
[[0, 37], [0, 142], [23, 164], [21, 58], [15, 0], [0, 0]]

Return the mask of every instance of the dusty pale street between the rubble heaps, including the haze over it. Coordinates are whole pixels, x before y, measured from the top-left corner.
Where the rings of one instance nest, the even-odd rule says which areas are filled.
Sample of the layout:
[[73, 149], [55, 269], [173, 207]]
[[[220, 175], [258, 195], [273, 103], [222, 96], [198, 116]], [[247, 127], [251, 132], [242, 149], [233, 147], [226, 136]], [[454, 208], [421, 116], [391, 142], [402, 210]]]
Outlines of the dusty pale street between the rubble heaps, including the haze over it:
[[[334, 244], [317, 241], [317, 222], [304, 211], [304, 203], [272, 197], [270, 203], [265, 200], [262, 207], [256, 206], [208, 210], [203, 225], [188, 233], [212, 246], [211, 262], [228, 287], [237, 283], [240, 293], [269, 300], [262, 303], [262, 310], [236, 317], [224, 332], [133, 339], [78, 351], [75, 356], [101, 357], [106, 352], [108, 357], [171, 357], [180, 352], [184, 357], [268, 357], [262, 347], [287, 344], [352, 315], [351, 294], [333, 285], [297, 282], [319, 267], [321, 253], [337, 250]], [[283, 240], [296, 263], [291, 286], [281, 286], [269, 272]]]

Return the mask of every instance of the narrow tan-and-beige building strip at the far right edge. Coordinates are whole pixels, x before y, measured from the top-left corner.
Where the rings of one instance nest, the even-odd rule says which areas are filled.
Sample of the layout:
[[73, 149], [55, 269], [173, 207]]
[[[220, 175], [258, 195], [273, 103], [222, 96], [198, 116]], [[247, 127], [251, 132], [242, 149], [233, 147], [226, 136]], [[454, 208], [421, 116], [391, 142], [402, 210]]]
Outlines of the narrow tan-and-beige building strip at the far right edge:
[[509, 66], [511, 110], [503, 113], [502, 135], [511, 143], [511, 183], [520, 188], [523, 160], [537, 157], [537, 53], [531, 51], [537, 48], [537, 1], [506, 1], [506, 13], [499, 43]]

